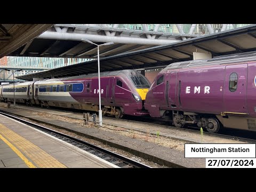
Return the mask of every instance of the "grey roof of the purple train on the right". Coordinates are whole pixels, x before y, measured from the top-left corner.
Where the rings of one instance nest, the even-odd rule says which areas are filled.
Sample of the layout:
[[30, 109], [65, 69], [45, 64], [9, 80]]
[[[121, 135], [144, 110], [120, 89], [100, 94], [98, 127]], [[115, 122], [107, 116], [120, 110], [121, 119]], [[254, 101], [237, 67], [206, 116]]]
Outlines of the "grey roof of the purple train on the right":
[[235, 62], [247, 62], [247, 61], [255, 61], [256, 60], [256, 51], [246, 52], [246, 53], [237, 53], [230, 55], [223, 55], [214, 57], [212, 59], [198, 59], [191, 60], [185, 62], [175, 62], [166, 66], [161, 72], [165, 72], [170, 69], [179, 69], [179, 68], [189, 68], [196, 66], [207, 66], [207, 65], [222, 65], [227, 63], [235, 63]]

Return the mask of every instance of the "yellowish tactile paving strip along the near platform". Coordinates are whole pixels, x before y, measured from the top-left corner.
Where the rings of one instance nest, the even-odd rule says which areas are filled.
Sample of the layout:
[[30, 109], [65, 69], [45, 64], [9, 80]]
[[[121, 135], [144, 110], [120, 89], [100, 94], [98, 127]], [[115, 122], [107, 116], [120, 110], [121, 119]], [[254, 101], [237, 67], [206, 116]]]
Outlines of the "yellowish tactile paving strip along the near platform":
[[0, 134], [6, 138], [12, 145], [15, 145], [20, 151], [33, 161], [37, 167], [41, 168], [67, 168], [57, 159], [47, 154], [44, 150], [34, 145], [32, 142], [21, 137], [19, 134], [8, 129], [0, 123]]

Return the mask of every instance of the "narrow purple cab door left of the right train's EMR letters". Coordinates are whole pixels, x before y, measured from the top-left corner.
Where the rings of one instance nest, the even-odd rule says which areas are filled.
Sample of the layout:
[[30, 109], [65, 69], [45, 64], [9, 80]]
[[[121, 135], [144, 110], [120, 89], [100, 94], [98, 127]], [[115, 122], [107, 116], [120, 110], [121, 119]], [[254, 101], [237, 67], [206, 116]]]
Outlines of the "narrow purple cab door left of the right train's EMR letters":
[[177, 73], [171, 73], [166, 77], [166, 103], [168, 107], [177, 107], [176, 106], [176, 78]]

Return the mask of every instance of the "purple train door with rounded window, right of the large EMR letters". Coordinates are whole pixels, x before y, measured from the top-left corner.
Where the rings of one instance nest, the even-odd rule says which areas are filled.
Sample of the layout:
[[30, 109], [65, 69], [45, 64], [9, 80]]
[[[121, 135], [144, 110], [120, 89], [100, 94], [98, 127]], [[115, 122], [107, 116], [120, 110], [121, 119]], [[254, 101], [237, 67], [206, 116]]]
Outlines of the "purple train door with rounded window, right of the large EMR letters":
[[247, 114], [247, 67], [247, 63], [226, 66], [223, 112]]

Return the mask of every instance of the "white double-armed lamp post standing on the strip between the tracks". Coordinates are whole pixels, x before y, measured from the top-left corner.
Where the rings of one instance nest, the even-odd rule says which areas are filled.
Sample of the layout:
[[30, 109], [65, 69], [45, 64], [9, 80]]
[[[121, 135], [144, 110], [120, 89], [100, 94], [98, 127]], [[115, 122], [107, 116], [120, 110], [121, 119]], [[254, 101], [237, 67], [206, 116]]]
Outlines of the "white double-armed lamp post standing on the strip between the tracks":
[[98, 46], [99, 125], [102, 126], [102, 111], [101, 111], [101, 99], [100, 99], [101, 89], [100, 89], [100, 51], [99, 51], [99, 46], [101, 46], [101, 45], [111, 45], [111, 44], [114, 44], [114, 42], [108, 42], [108, 43], [103, 43], [103, 44], [97, 45], [97, 44], [91, 42], [90, 40], [88, 40], [86, 38], [81, 39], [81, 41], [82, 42], [88, 42], [88, 43], [91, 43], [91, 44], [94, 44], [94, 45]]

